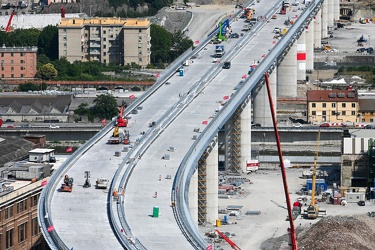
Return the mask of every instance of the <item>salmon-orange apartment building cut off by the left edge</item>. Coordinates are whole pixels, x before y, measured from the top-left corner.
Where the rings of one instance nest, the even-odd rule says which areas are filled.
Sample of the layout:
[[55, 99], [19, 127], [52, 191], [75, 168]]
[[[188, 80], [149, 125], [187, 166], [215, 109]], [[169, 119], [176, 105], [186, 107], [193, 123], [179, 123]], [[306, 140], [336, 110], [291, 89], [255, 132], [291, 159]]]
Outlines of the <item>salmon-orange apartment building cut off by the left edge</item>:
[[34, 78], [37, 47], [0, 47], [1, 79]]

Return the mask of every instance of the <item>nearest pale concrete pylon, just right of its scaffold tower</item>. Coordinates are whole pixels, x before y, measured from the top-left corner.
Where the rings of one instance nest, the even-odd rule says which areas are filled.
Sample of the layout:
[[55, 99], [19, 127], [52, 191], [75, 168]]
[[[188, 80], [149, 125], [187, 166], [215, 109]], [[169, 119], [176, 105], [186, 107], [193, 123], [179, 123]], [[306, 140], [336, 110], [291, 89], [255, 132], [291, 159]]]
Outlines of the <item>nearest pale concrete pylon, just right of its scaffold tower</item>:
[[215, 143], [212, 151], [207, 157], [207, 175], [206, 175], [206, 201], [207, 201], [207, 217], [206, 221], [212, 225], [216, 224], [216, 219], [218, 218], [218, 206], [219, 198], [217, 195], [217, 188], [219, 186], [218, 180], [218, 159], [219, 150], [218, 143]]

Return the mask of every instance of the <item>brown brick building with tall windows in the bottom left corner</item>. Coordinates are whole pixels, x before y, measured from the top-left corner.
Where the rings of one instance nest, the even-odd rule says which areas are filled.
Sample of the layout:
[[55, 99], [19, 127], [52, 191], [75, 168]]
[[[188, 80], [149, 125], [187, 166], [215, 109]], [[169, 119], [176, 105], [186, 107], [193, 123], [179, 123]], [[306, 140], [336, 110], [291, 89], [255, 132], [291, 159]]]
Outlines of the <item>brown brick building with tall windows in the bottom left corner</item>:
[[[0, 249], [49, 249], [37, 219], [43, 180], [2, 184], [0, 190]], [[13, 190], [14, 189], [14, 190]]]

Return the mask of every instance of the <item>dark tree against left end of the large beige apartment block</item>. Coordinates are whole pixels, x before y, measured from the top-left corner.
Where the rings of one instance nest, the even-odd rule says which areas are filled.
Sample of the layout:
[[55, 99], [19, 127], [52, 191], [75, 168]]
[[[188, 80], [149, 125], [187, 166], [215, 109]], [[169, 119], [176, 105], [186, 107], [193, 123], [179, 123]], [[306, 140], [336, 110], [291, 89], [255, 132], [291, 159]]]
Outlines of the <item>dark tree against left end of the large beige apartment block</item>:
[[43, 28], [38, 39], [38, 53], [45, 54], [51, 61], [58, 59], [59, 33], [56, 26]]

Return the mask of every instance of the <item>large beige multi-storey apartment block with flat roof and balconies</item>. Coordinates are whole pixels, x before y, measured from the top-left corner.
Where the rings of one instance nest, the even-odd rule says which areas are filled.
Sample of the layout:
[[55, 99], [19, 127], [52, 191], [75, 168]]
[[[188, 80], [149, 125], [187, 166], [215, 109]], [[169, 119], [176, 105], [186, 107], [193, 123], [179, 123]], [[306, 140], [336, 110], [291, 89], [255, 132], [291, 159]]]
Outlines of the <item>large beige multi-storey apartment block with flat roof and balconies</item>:
[[59, 57], [69, 62], [146, 67], [151, 55], [150, 24], [148, 19], [62, 19], [58, 25]]

